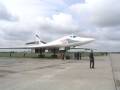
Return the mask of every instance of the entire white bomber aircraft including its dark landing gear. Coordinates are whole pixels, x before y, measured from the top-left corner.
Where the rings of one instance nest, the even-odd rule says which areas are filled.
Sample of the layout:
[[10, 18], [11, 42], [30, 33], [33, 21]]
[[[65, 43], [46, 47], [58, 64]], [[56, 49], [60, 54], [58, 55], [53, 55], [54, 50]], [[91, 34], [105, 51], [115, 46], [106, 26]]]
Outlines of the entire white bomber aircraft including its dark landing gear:
[[[45, 50], [48, 51], [51, 50], [51, 52], [53, 52], [53, 56], [57, 57], [56, 52], [60, 51], [61, 48], [62, 48], [61, 53], [65, 54], [66, 50], [70, 49], [71, 47], [73, 48], [76, 46], [84, 45], [95, 40], [94, 38], [68, 35], [55, 41], [46, 43], [44, 41], [41, 41], [38, 35], [36, 35], [36, 37], [39, 39], [39, 41], [26, 43], [25, 46], [0, 49], [35, 49], [35, 53], [40, 53], [40, 57], [44, 57], [42, 53], [45, 52]], [[64, 58], [64, 54], [62, 55], [62, 58]]]

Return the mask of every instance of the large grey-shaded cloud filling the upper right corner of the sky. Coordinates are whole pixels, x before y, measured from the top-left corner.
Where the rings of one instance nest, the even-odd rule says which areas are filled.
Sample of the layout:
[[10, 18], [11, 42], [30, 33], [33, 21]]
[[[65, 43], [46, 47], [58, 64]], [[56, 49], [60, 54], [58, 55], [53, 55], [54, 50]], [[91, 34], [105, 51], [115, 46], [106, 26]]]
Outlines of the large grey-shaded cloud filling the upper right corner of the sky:
[[80, 16], [88, 16], [89, 23], [100, 27], [120, 25], [119, 0], [86, 0], [86, 3], [77, 3], [69, 8]]

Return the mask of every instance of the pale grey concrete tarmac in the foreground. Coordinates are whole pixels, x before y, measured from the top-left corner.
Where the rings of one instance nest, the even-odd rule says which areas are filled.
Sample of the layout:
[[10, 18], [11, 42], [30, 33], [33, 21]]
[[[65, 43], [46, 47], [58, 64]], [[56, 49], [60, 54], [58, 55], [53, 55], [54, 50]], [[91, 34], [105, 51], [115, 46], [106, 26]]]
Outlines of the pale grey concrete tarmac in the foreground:
[[89, 60], [0, 58], [0, 90], [116, 90], [109, 56]]

